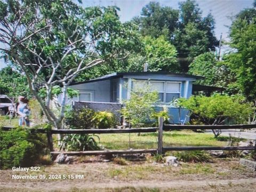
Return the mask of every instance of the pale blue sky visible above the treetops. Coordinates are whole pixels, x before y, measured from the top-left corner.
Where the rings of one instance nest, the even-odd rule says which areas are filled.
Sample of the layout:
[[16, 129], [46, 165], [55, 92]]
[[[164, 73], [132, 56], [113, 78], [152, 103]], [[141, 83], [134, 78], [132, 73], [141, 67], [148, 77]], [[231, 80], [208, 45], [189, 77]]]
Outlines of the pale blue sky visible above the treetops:
[[[74, 0], [77, 2], [77, 0]], [[150, 1], [141, 0], [119, 0], [119, 1], [87, 1], [83, 0], [82, 6], [111, 6], [116, 5], [120, 8], [119, 16], [122, 22], [130, 21], [133, 17], [139, 16], [143, 6], [147, 5]], [[179, 8], [177, 0], [172, 1], [157, 1], [162, 6], [170, 6], [173, 9]], [[243, 9], [252, 7], [253, 0], [197, 0], [196, 3], [202, 10], [202, 15], [205, 17], [208, 13], [212, 13], [215, 19], [215, 36], [228, 41], [229, 29], [227, 26], [231, 25], [231, 20], [228, 18], [234, 16]], [[225, 49], [224, 49], [225, 50]], [[4, 60], [0, 59], [0, 69], [5, 67]]]

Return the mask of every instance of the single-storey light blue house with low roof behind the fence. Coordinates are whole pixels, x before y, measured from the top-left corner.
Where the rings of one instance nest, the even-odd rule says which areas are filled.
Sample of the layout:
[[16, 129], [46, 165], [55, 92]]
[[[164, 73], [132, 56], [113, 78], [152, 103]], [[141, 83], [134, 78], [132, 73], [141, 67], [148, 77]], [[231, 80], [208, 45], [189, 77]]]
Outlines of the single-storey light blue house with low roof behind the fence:
[[[159, 93], [159, 103], [155, 108], [163, 110], [167, 105], [172, 117], [171, 123], [189, 121], [188, 110], [171, 106], [170, 102], [177, 98], [189, 98], [192, 94], [193, 82], [199, 76], [188, 74], [175, 74], [169, 72], [131, 72], [113, 73], [89, 81], [77, 82], [69, 87], [79, 91], [79, 96], [71, 99], [73, 105], [86, 103], [86, 106], [97, 110], [108, 110], [115, 105], [121, 105], [124, 100], [129, 100], [131, 91], [137, 91], [145, 86]], [[116, 107], [118, 109], [118, 107]]]

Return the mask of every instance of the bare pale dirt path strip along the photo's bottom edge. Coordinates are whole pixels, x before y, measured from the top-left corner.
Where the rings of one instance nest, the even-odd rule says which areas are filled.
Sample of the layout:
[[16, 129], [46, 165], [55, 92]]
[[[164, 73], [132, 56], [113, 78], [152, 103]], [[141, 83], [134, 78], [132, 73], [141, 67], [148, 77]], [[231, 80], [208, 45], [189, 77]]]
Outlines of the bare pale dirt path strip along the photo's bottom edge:
[[[213, 191], [255, 191], [256, 179], [241, 180], [203, 180], [203, 181], [140, 181], [140, 182], [110, 182], [110, 183], [91, 183], [81, 182], [79, 185], [73, 183], [55, 182], [54, 185], [40, 183], [40, 185], [20, 186], [17, 183], [3, 187], [4, 191], [123, 191], [122, 189], [158, 189], [159, 191], [177, 189], [179, 191], [205, 191], [205, 189]], [[118, 190], [119, 189], [119, 190]], [[129, 190], [130, 191], [130, 190]], [[133, 191], [133, 190], [132, 190]]]

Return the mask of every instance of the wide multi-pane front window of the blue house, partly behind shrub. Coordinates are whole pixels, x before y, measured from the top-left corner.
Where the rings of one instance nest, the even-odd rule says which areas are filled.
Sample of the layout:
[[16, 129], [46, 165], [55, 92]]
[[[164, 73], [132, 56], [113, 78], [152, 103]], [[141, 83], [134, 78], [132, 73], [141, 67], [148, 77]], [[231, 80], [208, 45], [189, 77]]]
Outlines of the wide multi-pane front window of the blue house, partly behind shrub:
[[145, 87], [149, 87], [150, 91], [157, 91], [159, 95], [159, 101], [171, 102], [177, 98], [180, 98], [181, 82], [164, 82], [164, 81], [133, 81], [132, 90], [139, 92], [145, 90]]

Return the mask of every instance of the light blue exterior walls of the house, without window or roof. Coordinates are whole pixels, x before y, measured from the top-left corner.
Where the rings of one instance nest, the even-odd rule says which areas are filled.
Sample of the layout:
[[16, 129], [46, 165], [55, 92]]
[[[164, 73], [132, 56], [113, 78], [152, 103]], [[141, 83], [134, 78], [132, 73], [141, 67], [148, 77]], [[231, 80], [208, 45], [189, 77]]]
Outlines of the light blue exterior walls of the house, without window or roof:
[[[123, 78], [71, 85], [70, 87], [81, 92], [91, 92], [92, 101], [122, 103], [124, 100], [129, 99], [129, 92], [131, 91], [131, 79], [181, 82], [180, 95], [181, 97], [185, 98], [189, 98], [192, 95], [193, 81], [195, 81], [195, 78], [175, 77], [171, 75], [126, 75]], [[114, 89], [116, 89], [115, 97], [113, 95]], [[71, 100], [77, 101], [77, 98], [73, 98]], [[167, 107], [171, 117], [171, 123], [178, 124], [185, 121], [185, 119], [186, 122], [189, 121], [189, 118], [186, 118], [186, 115], [188, 114], [187, 109], [179, 109], [170, 105], [167, 105]], [[157, 105], [155, 109], [157, 111], [161, 111], [163, 110], [163, 106]]]

